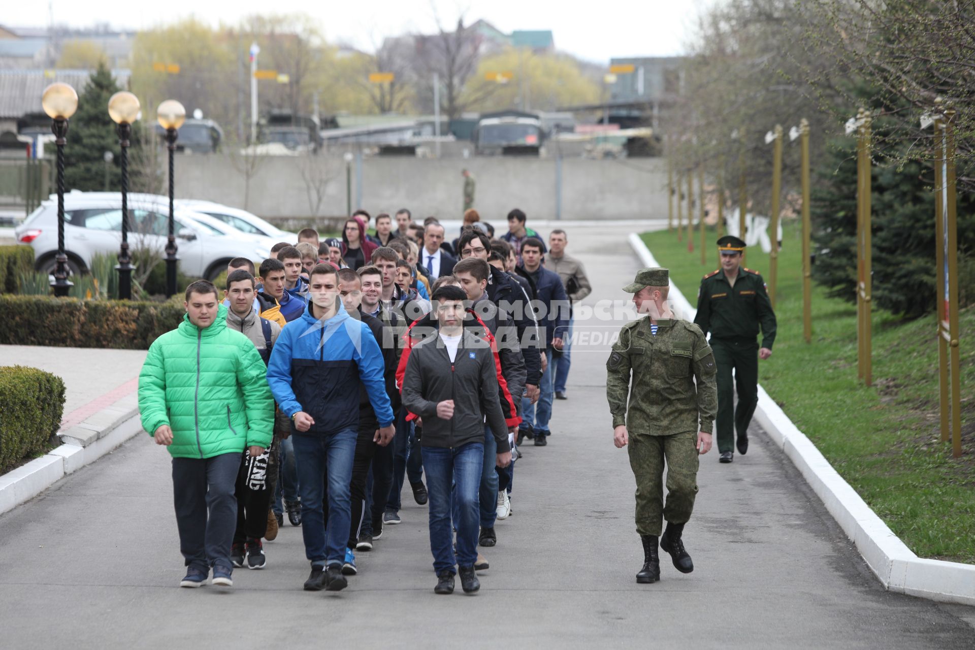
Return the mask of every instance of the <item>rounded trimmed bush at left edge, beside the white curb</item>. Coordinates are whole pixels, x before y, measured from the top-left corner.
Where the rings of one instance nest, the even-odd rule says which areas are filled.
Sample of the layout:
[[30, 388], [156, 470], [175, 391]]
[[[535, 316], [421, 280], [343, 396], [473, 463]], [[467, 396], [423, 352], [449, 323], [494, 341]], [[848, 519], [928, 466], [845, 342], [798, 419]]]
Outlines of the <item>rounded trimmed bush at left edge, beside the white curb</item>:
[[22, 365], [0, 367], [0, 474], [51, 448], [64, 412], [64, 382]]

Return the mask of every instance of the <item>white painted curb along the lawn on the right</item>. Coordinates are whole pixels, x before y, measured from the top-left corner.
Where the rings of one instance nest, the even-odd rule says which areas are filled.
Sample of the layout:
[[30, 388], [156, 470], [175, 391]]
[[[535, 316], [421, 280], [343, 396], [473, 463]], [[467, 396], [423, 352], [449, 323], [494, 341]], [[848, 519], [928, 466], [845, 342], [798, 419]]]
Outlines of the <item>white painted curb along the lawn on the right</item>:
[[[631, 233], [629, 239], [644, 266], [660, 266], [639, 235]], [[692, 319], [697, 313], [673, 281], [668, 297], [685, 318]], [[800, 432], [761, 386], [755, 419], [796, 465], [887, 590], [975, 605], [975, 566], [925, 559], [914, 554], [839, 476], [816, 445]]]

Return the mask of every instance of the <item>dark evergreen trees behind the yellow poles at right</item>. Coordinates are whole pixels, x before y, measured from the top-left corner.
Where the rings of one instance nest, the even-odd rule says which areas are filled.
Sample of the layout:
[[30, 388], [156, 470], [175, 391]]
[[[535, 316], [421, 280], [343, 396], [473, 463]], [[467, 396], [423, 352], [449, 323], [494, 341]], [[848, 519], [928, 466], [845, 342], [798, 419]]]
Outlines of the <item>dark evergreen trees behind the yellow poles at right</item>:
[[[874, 126], [883, 137], [882, 120]], [[829, 150], [811, 203], [813, 279], [829, 287], [830, 295], [856, 302], [856, 140], [834, 141]], [[905, 318], [928, 314], [938, 282], [933, 172], [917, 162], [897, 169], [875, 160], [871, 176], [874, 304]], [[957, 243], [959, 269], [967, 268], [967, 255], [975, 249], [975, 197], [963, 192], [957, 195]]]

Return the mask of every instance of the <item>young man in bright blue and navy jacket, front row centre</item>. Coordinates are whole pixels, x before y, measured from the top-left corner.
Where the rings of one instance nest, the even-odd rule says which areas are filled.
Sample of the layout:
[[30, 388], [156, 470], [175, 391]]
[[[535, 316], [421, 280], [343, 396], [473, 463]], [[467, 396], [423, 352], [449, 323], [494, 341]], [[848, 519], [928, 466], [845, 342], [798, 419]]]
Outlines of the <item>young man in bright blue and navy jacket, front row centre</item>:
[[[369, 325], [349, 317], [329, 264], [312, 269], [308, 307], [278, 336], [267, 383], [292, 420], [301, 496], [301, 534], [311, 561], [308, 591], [337, 592], [351, 524], [352, 462], [359, 429], [360, 386], [366, 388], [382, 440], [391, 440], [393, 408], [386, 394], [382, 351]], [[329, 480], [329, 523], [323, 510]], [[326, 538], [328, 529], [328, 538]]]

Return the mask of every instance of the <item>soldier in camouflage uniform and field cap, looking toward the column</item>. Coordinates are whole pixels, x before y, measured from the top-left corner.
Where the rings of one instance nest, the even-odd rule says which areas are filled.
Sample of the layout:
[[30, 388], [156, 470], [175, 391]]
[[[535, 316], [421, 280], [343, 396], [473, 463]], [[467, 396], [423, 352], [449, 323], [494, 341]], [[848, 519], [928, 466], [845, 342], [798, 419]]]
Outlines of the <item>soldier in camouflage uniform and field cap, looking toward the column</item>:
[[[694, 570], [683, 548], [683, 524], [694, 509], [698, 456], [711, 448], [718, 410], [714, 355], [700, 328], [675, 318], [667, 306], [668, 275], [667, 269], [642, 269], [623, 287], [647, 318], [623, 325], [606, 362], [613, 442], [628, 446], [637, 479], [637, 532], [643, 541], [638, 583], [660, 579], [658, 538], [678, 571]], [[667, 529], [660, 536], [663, 519]]]

